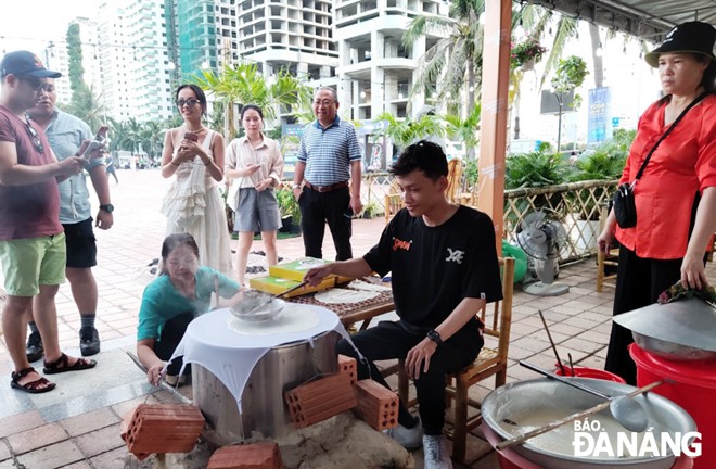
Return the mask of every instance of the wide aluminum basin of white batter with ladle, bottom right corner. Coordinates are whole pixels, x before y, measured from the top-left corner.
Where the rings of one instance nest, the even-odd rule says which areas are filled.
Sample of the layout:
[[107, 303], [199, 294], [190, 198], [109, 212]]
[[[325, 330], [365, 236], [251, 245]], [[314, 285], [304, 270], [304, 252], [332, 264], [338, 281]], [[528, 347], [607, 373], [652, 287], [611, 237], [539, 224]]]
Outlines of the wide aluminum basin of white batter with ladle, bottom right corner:
[[[613, 381], [590, 378], [568, 379], [608, 395], [622, 395], [635, 390], [634, 386]], [[647, 411], [649, 426], [653, 428], [652, 433], [656, 435], [657, 442], [661, 432], [668, 432], [674, 435], [676, 432], [686, 434], [696, 429], [691, 416], [665, 397], [649, 393], [638, 395], [635, 400]], [[525, 417], [517, 416], [548, 416], [552, 414], [564, 417], [578, 410], [586, 410], [601, 402], [603, 400], [600, 397], [544, 378], [509, 383], [496, 389], [483, 401], [482, 414], [485, 423], [500, 436], [500, 440], [508, 440], [517, 433], [522, 433], [520, 421]], [[565, 409], [568, 409], [566, 414]], [[608, 409], [591, 416], [590, 420], [606, 422], [609, 418]], [[545, 420], [541, 423], [533, 423], [533, 426], [547, 424], [557, 420], [557, 418], [546, 418]], [[506, 422], [509, 422], [509, 424], [506, 424]], [[510, 427], [514, 428], [511, 431], [506, 430]], [[603, 428], [606, 428], [606, 424]], [[563, 433], [559, 435], [560, 440], [555, 442], [554, 446], [545, 443], [535, 444], [538, 442], [537, 440], [529, 440], [529, 443], [514, 446], [513, 449], [524, 458], [550, 469], [669, 469], [676, 461], [673, 454], [624, 458], [575, 456], [573, 447], [575, 441], [573, 434], [574, 423], [563, 426], [560, 431]], [[616, 438], [610, 440], [615, 442]], [[616, 446], [615, 443], [612, 444]]]

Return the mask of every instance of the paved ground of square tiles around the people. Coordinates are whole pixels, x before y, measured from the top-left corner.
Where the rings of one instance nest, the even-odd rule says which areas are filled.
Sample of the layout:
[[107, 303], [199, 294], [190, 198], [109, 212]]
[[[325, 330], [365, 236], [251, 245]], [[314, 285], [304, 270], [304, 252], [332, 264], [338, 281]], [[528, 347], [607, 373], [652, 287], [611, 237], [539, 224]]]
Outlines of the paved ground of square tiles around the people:
[[[30, 396], [0, 385], [0, 469], [26, 468], [124, 468], [126, 448], [119, 439], [120, 416], [142, 402], [168, 402], [171, 396], [146, 383], [125, 350], [132, 350], [137, 313], [148, 281], [146, 265], [158, 256], [165, 221], [158, 213], [168, 182], [155, 170], [118, 172], [119, 185], [112, 185], [116, 206], [115, 226], [98, 231], [99, 266], [94, 269], [100, 307], [98, 328], [102, 335], [99, 365], [92, 371], [59, 375], [57, 389]], [[356, 220], [354, 251], [362, 254], [378, 239], [383, 218]], [[235, 243], [235, 241], [234, 241]], [[325, 243], [324, 257], [335, 250]], [[256, 242], [254, 249], [261, 249]], [[303, 255], [301, 238], [279, 241], [279, 255]], [[716, 282], [716, 268], [709, 264], [709, 278]], [[613, 290], [594, 292], [593, 259], [562, 269], [560, 281], [572, 287], [557, 297], [516, 293], [510, 344], [509, 381], [535, 378], [516, 365], [529, 359], [550, 368], [554, 357], [542, 331], [537, 312], [541, 309], [562, 357], [571, 353], [581, 366], [603, 367]], [[67, 284], [57, 295], [60, 339], [64, 351], [78, 353], [79, 318]], [[40, 365], [41, 364], [36, 364]], [[12, 364], [0, 338], [0, 376], [10, 376]], [[471, 395], [482, 398], [491, 381], [476, 385]], [[420, 460], [420, 454], [415, 455]], [[469, 467], [497, 468], [497, 459], [482, 439], [471, 436]], [[421, 465], [419, 465], [421, 467]]]

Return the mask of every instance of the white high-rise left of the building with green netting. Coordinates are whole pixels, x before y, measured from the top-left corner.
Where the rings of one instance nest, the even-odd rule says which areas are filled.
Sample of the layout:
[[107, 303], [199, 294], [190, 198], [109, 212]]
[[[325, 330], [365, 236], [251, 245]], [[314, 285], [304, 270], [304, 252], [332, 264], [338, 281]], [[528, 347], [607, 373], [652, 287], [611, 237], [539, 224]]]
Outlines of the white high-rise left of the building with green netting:
[[108, 116], [139, 122], [171, 117], [164, 0], [106, 0], [100, 7], [100, 64]]

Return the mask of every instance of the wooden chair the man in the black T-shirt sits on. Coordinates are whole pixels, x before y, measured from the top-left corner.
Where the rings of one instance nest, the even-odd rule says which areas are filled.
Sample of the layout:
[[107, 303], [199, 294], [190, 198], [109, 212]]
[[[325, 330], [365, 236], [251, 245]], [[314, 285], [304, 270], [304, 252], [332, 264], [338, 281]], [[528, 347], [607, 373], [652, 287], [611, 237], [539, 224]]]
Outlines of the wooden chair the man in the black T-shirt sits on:
[[[512, 324], [512, 295], [514, 292], [514, 258], [500, 259], [502, 266], [502, 301], [486, 305], [478, 313], [485, 324], [485, 347], [480, 352], [472, 365], [457, 373], [446, 377], [447, 408], [453, 413], [452, 428], [446, 428], [445, 433], [452, 440], [452, 457], [464, 461], [466, 452], [468, 432], [482, 423], [480, 413], [481, 403], [468, 396], [470, 386], [480, 381], [495, 377], [495, 388], [503, 385], [507, 381], [508, 350], [510, 347], [510, 327]], [[490, 348], [488, 341], [497, 342], [496, 348]], [[405, 372], [405, 363], [398, 366], [398, 395], [408, 407], [414, 406], [417, 400], [409, 400], [408, 376]], [[469, 417], [469, 407], [476, 409], [476, 414]]]

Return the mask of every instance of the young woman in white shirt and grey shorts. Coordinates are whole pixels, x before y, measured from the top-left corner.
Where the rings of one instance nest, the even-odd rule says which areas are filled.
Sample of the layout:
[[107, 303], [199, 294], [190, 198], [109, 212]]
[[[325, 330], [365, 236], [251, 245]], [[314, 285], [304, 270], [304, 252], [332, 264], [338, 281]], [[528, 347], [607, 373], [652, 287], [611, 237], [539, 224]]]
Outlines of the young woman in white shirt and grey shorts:
[[259, 106], [243, 106], [241, 125], [246, 136], [234, 139], [227, 147], [225, 174], [227, 179], [235, 179], [227, 203], [236, 212], [234, 229], [239, 231], [238, 279], [240, 284], [244, 284], [246, 258], [255, 231], [261, 232], [268, 264], [276, 265], [279, 262], [276, 230], [281, 226], [281, 216], [273, 188], [281, 183], [283, 157], [277, 141], [261, 131], [264, 113]]

